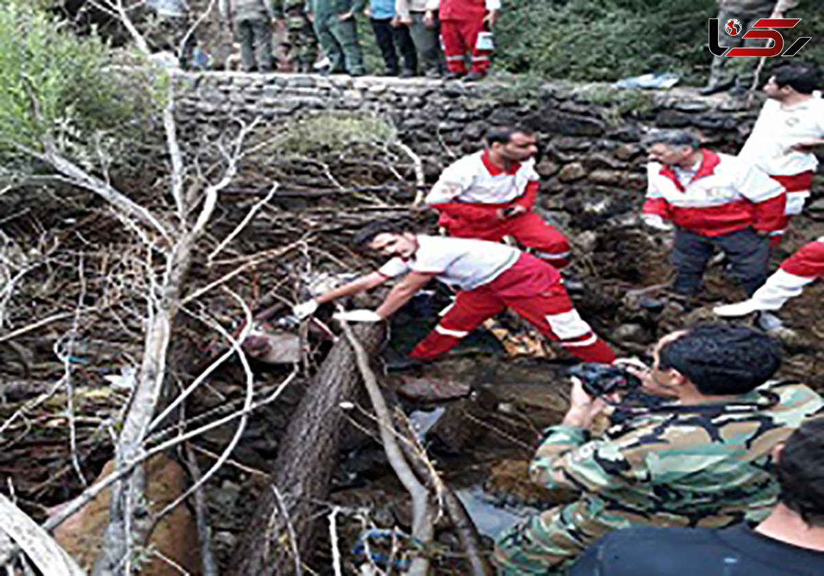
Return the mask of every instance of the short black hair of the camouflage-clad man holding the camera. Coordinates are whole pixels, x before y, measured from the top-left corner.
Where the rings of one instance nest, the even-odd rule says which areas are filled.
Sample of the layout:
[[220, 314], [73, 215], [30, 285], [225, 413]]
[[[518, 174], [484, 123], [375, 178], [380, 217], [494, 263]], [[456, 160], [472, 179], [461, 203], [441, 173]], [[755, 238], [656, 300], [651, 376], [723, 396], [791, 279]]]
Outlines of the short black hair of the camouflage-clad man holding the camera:
[[676, 369], [706, 395], [751, 392], [781, 366], [774, 338], [749, 327], [700, 324], [658, 351], [658, 368]]

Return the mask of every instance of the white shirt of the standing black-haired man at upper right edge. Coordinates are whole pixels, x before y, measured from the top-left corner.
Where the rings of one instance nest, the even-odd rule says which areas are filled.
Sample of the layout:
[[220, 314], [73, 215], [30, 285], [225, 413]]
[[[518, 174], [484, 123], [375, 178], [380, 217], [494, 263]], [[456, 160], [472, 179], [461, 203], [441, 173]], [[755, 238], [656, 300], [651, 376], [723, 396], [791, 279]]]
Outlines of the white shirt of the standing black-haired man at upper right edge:
[[812, 153], [790, 150], [791, 146], [824, 137], [824, 100], [812, 96], [792, 106], [767, 100], [738, 157], [771, 176], [791, 176], [816, 170]]

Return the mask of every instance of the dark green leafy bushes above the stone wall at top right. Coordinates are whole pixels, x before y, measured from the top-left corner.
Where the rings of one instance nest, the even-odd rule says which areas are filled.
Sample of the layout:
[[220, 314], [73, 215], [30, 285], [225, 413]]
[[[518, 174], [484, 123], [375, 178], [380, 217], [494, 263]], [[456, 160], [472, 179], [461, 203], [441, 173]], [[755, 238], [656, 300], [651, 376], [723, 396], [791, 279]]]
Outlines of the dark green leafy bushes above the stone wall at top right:
[[[798, 60], [824, 60], [824, 16], [806, 2], [788, 16], [803, 20], [784, 38], [812, 36]], [[675, 72], [706, 81], [711, 55], [707, 20], [714, 0], [522, 0], [504, 4], [496, 25], [495, 67], [571, 81], [615, 81]], [[771, 66], [780, 58], [771, 58]]]

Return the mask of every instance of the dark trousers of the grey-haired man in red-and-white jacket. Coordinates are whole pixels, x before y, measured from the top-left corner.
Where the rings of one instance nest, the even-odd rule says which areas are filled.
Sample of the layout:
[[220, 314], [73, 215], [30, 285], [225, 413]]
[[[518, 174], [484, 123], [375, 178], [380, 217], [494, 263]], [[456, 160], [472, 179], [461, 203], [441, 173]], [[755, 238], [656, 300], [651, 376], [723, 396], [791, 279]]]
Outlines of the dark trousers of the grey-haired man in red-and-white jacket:
[[701, 290], [701, 279], [715, 249], [727, 254], [735, 279], [751, 296], [768, 276], [770, 240], [755, 230], [736, 230], [721, 236], [702, 236], [689, 230], [676, 229], [672, 249], [672, 265], [676, 267], [672, 290], [695, 296]]

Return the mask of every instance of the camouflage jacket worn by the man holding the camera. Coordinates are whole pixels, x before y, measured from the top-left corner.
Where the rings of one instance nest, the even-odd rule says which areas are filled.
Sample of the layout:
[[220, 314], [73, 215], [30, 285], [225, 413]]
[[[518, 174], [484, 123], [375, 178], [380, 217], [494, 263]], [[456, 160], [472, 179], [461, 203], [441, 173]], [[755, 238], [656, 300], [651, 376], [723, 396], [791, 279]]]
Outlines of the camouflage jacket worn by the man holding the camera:
[[726, 526], [760, 519], [778, 495], [772, 448], [822, 406], [806, 386], [766, 383], [723, 403], [663, 403], [613, 426], [602, 439], [554, 426], [530, 476], [550, 488], [581, 490], [588, 516], [602, 526]]

